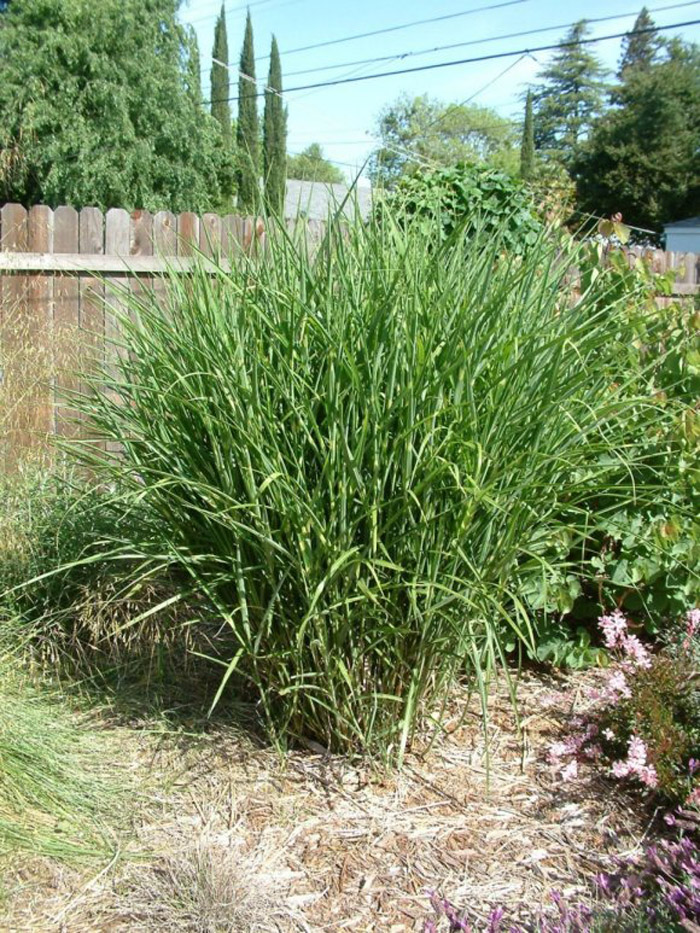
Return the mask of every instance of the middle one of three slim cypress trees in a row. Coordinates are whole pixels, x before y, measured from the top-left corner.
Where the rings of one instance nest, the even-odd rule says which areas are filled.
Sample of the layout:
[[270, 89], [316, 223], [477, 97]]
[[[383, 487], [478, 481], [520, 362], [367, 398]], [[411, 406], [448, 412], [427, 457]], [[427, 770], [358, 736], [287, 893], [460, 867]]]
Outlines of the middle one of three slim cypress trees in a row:
[[258, 89], [255, 84], [255, 50], [253, 23], [250, 10], [245, 24], [245, 38], [241, 50], [240, 77], [238, 78], [238, 206], [249, 213], [258, 209], [260, 165], [258, 127]]

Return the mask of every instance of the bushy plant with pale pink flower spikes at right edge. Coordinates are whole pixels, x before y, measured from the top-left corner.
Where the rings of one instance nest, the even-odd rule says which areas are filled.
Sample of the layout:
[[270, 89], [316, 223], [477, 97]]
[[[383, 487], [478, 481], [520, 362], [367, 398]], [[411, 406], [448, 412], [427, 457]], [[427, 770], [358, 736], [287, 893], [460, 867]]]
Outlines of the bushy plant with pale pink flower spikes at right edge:
[[700, 804], [700, 610], [652, 653], [616, 609], [599, 629], [612, 664], [589, 691], [592, 707], [549, 748], [563, 780], [583, 761], [673, 803]]

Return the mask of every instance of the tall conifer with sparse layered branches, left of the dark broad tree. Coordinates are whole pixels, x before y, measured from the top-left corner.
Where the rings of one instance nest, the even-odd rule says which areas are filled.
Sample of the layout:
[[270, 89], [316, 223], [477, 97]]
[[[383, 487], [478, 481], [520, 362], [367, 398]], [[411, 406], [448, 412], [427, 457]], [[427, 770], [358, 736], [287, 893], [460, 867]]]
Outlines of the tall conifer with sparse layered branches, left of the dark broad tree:
[[603, 107], [605, 69], [581, 40], [586, 21], [571, 27], [549, 65], [538, 74], [535, 88], [535, 144], [569, 165]]

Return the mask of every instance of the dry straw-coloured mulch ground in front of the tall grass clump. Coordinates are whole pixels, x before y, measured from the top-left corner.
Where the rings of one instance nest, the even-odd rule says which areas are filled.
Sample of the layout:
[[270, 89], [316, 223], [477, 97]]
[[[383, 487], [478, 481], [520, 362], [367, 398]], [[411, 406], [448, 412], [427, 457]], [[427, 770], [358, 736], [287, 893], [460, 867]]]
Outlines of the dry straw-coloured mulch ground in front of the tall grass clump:
[[497, 905], [536, 909], [552, 889], [586, 900], [613, 854], [640, 847], [649, 814], [599, 776], [562, 784], [546, 763], [570, 697], [585, 704], [583, 680], [525, 676], [520, 732], [495, 686], [488, 742], [478, 703], [462, 716], [456, 695], [453, 730], [398, 775], [320, 753], [282, 760], [223, 727], [122, 727], [119, 767], [141, 787], [128, 855], [90, 874], [23, 866], [0, 925], [408, 933], [429, 915], [428, 889], [477, 920]]

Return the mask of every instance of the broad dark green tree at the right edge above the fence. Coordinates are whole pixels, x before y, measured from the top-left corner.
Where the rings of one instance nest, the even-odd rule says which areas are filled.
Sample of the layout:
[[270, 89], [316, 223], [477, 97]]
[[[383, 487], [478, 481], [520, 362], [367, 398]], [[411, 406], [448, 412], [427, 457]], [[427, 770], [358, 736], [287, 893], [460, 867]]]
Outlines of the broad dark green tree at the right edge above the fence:
[[581, 206], [656, 231], [700, 213], [700, 52], [674, 39], [665, 60], [627, 68], [576, 164]]

